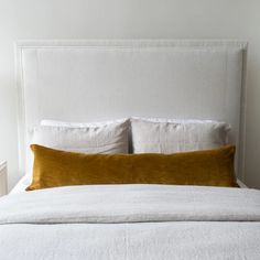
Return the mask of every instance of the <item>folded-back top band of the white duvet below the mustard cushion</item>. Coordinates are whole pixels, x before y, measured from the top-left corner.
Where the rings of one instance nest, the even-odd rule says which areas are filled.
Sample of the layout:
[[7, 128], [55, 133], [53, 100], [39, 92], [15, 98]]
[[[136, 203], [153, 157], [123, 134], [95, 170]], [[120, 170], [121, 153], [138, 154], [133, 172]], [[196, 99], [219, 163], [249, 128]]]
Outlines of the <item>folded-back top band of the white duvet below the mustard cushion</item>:
[[260, 192], [248, 188], [67, 186], [0, 202], [0, 224], [260, 221]]

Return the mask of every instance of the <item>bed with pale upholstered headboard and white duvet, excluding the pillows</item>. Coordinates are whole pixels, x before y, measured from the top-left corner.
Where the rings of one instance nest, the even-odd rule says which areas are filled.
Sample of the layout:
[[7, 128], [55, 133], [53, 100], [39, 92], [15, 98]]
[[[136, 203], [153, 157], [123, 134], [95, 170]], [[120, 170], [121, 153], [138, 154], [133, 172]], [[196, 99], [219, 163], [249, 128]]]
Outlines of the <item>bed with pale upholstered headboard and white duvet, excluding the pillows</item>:
[[225, 121], [242, 181], [246, 53], [247, 43], [239, 41], [19, 42], [25, 176], [0, 199], [0, 258], [259, 259], [257, 189], [112, 184], [24, 192], [32, 171], [29, 144], [43, 119]]

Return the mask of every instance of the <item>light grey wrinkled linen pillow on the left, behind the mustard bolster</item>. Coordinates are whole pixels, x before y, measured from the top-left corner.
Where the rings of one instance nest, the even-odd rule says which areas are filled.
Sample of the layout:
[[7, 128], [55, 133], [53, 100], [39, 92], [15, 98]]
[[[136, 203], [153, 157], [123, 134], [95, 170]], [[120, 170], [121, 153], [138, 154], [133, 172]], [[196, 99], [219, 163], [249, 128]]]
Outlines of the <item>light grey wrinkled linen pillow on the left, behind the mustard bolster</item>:
[[40, 126], [31, 143], [83, 153], [128, 153], [129, 121]]

